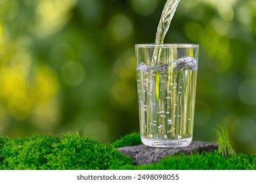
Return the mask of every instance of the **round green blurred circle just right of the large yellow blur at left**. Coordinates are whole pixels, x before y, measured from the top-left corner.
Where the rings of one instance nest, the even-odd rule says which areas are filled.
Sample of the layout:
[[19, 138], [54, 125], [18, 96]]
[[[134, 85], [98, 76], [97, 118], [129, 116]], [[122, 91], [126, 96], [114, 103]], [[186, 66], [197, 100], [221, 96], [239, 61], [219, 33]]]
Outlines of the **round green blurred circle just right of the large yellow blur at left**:
[[61, 69], [62, 80], [68, 86], [78, 86], [85, 78], [85, 69], [77, 61], [68, 61]]

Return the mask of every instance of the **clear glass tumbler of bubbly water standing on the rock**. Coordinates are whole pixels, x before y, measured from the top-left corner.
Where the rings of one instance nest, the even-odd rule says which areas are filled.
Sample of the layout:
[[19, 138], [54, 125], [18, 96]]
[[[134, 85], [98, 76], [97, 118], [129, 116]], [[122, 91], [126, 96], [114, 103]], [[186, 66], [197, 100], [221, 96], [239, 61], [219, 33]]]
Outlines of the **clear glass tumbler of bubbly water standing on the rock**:
[[136, 44], [140, 138], [152, 147], [192, 142], [198, 44]]

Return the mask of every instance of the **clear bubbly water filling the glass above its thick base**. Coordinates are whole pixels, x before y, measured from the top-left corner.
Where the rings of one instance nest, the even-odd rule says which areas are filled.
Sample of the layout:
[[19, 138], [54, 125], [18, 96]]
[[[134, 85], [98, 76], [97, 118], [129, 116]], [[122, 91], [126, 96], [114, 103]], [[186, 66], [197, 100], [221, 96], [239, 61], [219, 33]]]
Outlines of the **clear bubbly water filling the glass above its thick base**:
[[[181, 69], [181, 65], [185, 68]], [[144, 63], [137, 67], [138, 87], [142, 91], [138, 93], [141, 125], [143, 133], [150, 138], [176, 139], [192, 135], [192, 129], [186, 126], [192, 121], [193, 107], [185, 98], [190, 98], [194, 91], [195, 82], [190, 80], [196, 78], [196, 72], [182, 63], [181, 71], [169, 69], [167, 65], [154, 67]]]

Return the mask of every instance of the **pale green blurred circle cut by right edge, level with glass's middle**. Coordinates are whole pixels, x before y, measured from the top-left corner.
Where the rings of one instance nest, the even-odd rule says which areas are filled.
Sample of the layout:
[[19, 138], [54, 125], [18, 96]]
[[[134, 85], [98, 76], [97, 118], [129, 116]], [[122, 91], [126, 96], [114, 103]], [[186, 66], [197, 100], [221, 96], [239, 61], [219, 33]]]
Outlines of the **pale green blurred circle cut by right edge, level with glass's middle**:
[[245, 80], [240, 84], [238, 90], [240, 100], [248, 105], [256, 104], [256, 81]]

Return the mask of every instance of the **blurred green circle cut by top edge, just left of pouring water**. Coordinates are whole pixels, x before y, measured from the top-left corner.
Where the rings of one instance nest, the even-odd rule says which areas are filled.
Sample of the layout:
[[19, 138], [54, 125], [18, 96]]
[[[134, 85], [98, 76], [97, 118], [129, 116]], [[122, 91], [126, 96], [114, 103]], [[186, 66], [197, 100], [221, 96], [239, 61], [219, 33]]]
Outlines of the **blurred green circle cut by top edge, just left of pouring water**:
[[132, 0], [131, 5], [135, 12], [141, 15], [149, 15], [156, 10], [157, 0]]

